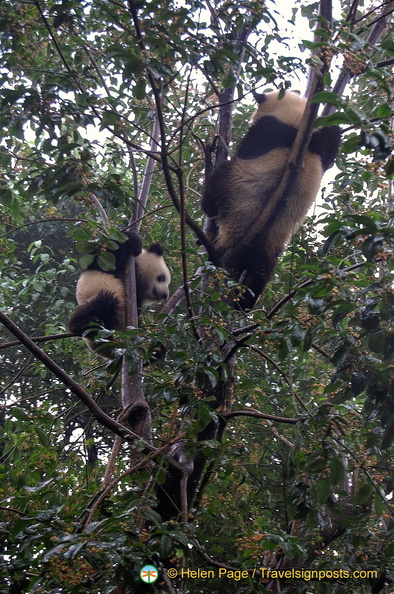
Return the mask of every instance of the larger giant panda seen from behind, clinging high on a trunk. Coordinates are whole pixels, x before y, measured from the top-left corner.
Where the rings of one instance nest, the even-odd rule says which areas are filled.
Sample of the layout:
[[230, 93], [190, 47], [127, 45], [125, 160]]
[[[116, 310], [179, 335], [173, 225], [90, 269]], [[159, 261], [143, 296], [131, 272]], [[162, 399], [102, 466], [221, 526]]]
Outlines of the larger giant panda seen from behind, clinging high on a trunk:
[[281, 181], [306, 106], [305, 98], [290, 91], [256, 99], [251, 127], [234, 157], [214, 168], [201, 202], [208, 217], [207, 237], [217, 254], [214, 264], [248, 288], [233, 303], [241, 309], [253, 308], [269, 281], [278, 256], [315, 200], [323, 173], [334, 164], [341, 140], [338, 126], [312, 133], [305, 166], [286, 206], [273, 221], [267, 212], [261, 232], [246, 244], [244, 238]]

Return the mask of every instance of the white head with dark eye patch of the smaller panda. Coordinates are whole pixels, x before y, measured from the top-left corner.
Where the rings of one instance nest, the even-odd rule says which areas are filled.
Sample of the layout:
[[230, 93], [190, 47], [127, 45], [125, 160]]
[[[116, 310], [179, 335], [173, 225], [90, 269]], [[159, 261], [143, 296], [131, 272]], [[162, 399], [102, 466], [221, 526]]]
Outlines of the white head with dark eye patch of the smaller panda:
[[151, 305], [168, 299], [171, 274], [162, 256], [142, 250], [136, 258], [136, 269], [140, 305]]

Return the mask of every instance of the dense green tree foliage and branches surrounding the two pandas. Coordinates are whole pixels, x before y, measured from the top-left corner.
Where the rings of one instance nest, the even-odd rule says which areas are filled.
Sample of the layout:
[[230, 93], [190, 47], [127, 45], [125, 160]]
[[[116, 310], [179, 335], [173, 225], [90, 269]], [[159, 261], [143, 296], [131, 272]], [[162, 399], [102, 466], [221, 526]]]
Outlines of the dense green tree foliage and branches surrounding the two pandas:
[[[1, 326], [0, 592], [393, 590], [394, 3], [334, 3], [329, 32], [319, 4], [0, 4], [1, 321], [63, 372]], [[303, 93], [322, 52], [337, 168], [234, 312], [201, 245], [205, 175], [253, 91]], [[66, 321], [81, 255], [130, 220], [175, 297], [118, 333], [121, 368]]]

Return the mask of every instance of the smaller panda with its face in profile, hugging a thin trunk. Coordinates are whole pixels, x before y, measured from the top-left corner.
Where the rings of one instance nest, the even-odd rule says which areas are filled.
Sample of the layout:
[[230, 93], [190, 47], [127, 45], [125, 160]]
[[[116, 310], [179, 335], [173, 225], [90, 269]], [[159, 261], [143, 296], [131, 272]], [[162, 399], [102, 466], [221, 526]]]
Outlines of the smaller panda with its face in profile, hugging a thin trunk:
[[[119, 243], [117, 250], [109, 250], [115, 256], [115, 269], [103, 272], [97, 258], [82, 272], [77, 282], [76, 298], [78, 307], [68, 320], [68, 329], [77, 336], [89, 329], [95, 322], [111, 330], [126, 328], [126, 293], [123, 276], [129, 256], [135, 256], [135, 274], [137, 286], [137, 307], [150, 305], [168, 299], [170, 271], [164, 261], [164, 250], [159, 243], [152, 243], [142, 249], [139, 236], [127, 232], [128, 238]], [[92, 328], [85, 336], [88, 348], [95, 351], [97, 329]], [[112, 358], [110, 350], [100, 349], [100, 355]]]

